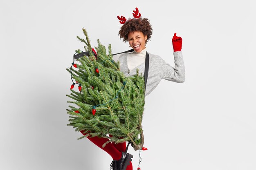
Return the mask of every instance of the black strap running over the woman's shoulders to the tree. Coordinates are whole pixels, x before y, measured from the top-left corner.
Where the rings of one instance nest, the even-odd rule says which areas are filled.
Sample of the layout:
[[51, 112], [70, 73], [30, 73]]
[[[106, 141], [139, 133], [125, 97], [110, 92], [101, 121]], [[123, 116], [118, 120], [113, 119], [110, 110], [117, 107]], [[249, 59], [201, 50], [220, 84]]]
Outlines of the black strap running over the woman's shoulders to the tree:
[[[128, 51], [124, 51], [124, 52], [116, 53], [116, 54], [112, 54], [112, 55], [129, 53], [129, 52], [133, 52], [133, 51], [134, 51], [133, 49], [130, 49]], [[76, 55], [74, 55], [74, 58], [79, 59], [80, 57], [83, 57], [84, 55], [90, 55], [89, 51], [85, 51], [85, 52], [76, 54]], [[149, 68], [149, 55], [148, 55], [148, 52], [146, 52], [145, 71], [144, 71], [145, 91], [146, 91], [146, 84], [147, 84], [147, 80], [148, 80], [148, 68]]]

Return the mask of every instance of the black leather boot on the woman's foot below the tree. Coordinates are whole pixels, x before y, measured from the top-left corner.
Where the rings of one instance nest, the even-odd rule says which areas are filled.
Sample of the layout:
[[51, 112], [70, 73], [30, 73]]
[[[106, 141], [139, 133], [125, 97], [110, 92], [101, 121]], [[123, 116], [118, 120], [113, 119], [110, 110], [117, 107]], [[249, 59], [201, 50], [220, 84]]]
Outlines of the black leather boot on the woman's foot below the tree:
[[130, 161], [132, 161], [133, 156], [127, 153], [128, 143], [125, 152], [122, 152], [122, 157], [119, 160], [113, 160], [110, 164], [110, 169], [112, 170], [126, 170], [127, 166], [130, 165]]

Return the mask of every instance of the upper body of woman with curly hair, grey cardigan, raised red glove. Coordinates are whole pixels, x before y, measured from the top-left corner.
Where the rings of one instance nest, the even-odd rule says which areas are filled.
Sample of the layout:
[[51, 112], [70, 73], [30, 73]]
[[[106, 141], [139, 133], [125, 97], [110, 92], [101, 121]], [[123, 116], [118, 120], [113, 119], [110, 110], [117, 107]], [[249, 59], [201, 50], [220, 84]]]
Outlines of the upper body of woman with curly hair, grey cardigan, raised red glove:
[[[146, 18], [130, 19], [124, 23], [119, 31], [120, 38], [124, 42], [129, 42], [129, 46], [134, 49], [132, 53], [122, 54], [118, 61], [120, 62], [120, 71], [126, 76], [139, 73], [144, 74], [146, 43], [151, 38], [152, 28], [149, 20]], [[161, 79], [182, 83], [185, 80], [185, 68], [182, 58], [182, 38], [177, 37], [176, 33], [172, 39], [174, 50], [175, 68], [166, 63], [158, 55], [149, 54], [148, 80], [145, 96], [151, 93], [159, 84]]]

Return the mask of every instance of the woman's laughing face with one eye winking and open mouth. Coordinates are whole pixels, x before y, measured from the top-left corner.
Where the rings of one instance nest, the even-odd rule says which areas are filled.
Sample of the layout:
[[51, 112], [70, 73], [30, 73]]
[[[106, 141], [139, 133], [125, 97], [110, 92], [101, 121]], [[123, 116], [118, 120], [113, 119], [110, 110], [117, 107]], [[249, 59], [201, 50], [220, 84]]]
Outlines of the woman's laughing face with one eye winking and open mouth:
[[128, 33], [128, 42], [132, 49], [134, 49], [134, 51], [136, 51], [137, 53], [140, 53], [142, 50], [146, 48], [146, 40], [147, 35], [145, 36], [140, 31]]

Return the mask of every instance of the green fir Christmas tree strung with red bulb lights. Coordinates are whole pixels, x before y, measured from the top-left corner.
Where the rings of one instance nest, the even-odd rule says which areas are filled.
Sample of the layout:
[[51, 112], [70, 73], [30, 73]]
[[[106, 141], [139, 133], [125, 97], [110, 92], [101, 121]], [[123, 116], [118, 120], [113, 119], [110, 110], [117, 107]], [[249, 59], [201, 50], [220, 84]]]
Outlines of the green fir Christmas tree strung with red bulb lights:
[[[67, 68], [71, 74], [71, 94], [67, 95], [74, 106], [69, 106], [67, 113], [70, 124], [76, 131], [84, 130], [85, 136], [103, 137], [115, 144], [129, 141], [135, 150], [141, 149], [144, 144], [141, 127], [144, 111], [144, 77], [137, 75], [126, 77], [119, 69], [119, 62], [112, 59], [111, 44], [106, 47], [98, 40], [98, 46], [91, 47], [88, 33], [82, 29], [85, 40], [85, 51], [78, 60], [73, 60], [72, 66]], [[76, 50], [76, 53], [82, 53]], [[74, 62], [77, 63], [74, 63]], [[79, 63], [79, 64], [78, 64]], [[73, 68], [74, 66], [74, 68]], [[73, 79], [76, 83], [74, 83]], [[78, 85], [78, 91], [73, 88]], [[76, 88], [75, 88], [76, 89]], [[108, 135], [109, 134], [109, 135]]]

